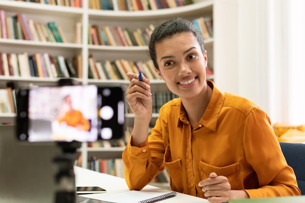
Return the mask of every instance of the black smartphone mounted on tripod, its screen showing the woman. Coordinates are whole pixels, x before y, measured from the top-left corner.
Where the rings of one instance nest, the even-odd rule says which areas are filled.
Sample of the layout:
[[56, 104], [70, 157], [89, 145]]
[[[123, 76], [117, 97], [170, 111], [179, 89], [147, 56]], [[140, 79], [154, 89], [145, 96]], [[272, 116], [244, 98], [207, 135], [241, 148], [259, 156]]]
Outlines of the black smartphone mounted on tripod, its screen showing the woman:
[[94, 142], [123, 136], [121, 87], [33, 87], [18, 90], [16, 103], [19, 140]]

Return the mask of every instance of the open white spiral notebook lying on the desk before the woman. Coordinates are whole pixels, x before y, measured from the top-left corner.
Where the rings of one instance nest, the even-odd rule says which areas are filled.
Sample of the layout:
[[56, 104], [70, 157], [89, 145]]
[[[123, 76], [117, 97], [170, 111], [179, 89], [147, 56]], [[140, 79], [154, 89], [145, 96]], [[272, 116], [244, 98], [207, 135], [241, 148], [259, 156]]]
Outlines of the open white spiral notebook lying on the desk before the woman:
[[176, 192], [150, 192], [131, 190], [119, 194], [100, 197], [98, 200], [107, 203], [155, 203], [176, 196]]

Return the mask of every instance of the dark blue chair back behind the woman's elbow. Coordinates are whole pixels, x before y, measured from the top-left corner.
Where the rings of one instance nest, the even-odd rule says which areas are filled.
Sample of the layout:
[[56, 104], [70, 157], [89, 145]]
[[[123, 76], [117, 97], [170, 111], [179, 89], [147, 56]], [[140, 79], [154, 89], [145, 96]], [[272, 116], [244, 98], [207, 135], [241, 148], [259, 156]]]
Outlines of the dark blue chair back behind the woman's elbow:
[[280, 142], [287, 164], [297, 177], [302, 195], [305, 195], [305, 144]]

